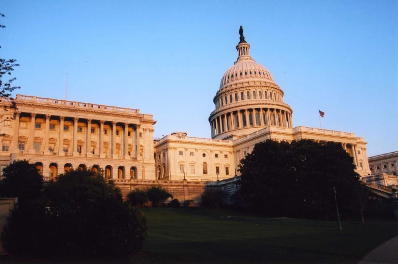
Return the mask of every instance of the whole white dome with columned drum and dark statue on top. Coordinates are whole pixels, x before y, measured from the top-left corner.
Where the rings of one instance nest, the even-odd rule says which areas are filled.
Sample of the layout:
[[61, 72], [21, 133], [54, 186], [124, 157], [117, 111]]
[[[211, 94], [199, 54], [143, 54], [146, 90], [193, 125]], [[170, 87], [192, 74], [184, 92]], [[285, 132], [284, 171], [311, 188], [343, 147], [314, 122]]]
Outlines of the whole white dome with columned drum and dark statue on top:
[[293, 128], [293, 110], [283, 103], [283, 91], [271, 73], [250, 57], [250, 45], [244, 40], [242, 28], [239, 34], [238, 59], [225, 72], [213, 99], [215, 110], [209, 117], [211, 137], [223, 138], [228, 135], [222, 134], [229, 131], [244, 133], [244, 128]]

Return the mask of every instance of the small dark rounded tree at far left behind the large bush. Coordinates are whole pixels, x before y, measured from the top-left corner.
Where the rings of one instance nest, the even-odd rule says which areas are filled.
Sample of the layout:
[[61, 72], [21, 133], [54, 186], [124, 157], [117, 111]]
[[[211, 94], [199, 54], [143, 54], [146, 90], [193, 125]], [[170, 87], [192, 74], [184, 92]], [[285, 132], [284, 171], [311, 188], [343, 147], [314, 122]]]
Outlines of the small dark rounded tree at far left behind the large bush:
[[43, 176], [39, 174], [36, 165], [27, 160], [11, 162], [3, 169], [3, 176], [2, 196], [18, 197], [20, 206], [42, 193]]

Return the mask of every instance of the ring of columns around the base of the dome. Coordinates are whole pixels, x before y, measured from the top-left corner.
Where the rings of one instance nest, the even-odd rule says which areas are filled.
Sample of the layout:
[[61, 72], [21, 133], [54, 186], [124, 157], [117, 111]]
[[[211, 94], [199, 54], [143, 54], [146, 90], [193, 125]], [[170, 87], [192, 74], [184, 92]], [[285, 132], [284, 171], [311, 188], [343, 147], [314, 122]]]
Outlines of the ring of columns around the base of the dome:
[[224, 112], [210, 121], [211, 137], [239, 128], [278, 126], [293, 128], [292, 114], [277, 108], [248, 108]]

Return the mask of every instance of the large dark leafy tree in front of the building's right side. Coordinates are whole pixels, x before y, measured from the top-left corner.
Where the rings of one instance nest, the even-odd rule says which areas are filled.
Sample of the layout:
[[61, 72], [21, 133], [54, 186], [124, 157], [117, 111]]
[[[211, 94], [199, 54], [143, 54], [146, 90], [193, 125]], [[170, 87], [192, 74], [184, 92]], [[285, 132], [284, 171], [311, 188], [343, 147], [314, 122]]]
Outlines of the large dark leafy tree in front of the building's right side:
[[242, 160], [240, 192], [271, 216], [328, 219], [335, 217], [333, 186], [342, 212], [364, 188], [352, 161], [337, 142], [267, 140]]

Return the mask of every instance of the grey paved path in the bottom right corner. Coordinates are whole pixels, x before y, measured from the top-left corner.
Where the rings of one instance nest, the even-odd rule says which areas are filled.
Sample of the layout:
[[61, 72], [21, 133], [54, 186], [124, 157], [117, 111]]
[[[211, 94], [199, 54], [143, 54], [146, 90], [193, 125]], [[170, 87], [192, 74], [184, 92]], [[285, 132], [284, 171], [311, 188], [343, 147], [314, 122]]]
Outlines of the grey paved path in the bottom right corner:
[[369, 252], [358, 264], [398, 263], [398, 236]]

